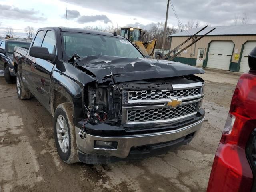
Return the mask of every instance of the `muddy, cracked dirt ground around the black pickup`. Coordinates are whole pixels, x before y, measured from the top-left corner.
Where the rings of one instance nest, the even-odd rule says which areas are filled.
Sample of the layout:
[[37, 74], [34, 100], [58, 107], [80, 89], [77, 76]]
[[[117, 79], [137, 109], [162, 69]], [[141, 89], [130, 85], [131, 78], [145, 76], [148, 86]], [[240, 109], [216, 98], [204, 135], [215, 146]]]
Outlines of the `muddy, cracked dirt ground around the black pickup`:
[[57, 154], [52, 116], [18, 100], [0, 77], [0, 192], [203, 192], [239, 74], [207, 70], [206, 120], [194, 140], [165, 155], [103, 166], [68, 165]]

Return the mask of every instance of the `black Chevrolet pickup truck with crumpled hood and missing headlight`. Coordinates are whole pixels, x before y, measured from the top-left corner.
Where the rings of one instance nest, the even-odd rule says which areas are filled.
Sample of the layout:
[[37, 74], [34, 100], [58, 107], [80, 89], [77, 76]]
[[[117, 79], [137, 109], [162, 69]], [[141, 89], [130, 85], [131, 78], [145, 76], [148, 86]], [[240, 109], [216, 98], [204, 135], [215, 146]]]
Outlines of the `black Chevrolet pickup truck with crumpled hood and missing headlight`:
[[194, 75], [204, 70], [147, 59], [116, 33], [41, 28], [13, 54], [18, 98], [34, 96], [52, 114], [66, 163], [164, 154], [204, 121], [204, 80]]

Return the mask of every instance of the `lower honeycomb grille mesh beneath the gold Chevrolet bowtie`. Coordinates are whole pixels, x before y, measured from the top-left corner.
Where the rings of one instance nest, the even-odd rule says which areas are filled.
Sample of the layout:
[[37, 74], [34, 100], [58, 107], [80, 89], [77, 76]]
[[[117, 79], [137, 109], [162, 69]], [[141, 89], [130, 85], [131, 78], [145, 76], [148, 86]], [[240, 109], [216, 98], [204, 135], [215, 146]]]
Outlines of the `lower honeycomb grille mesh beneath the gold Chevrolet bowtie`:
[[147, 109], [128, 109], [127, 122], [150, 122], [155, 120], [169, 120], [180, 116], [185, 116], [196, 112], [198, 102], [180, 105], [176, 108], [147, 108]]

